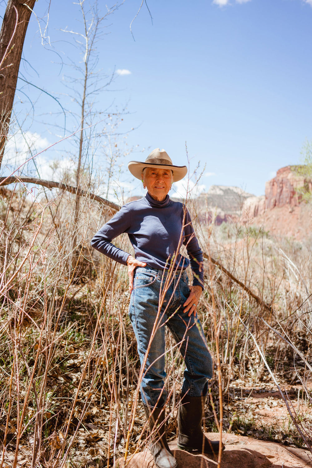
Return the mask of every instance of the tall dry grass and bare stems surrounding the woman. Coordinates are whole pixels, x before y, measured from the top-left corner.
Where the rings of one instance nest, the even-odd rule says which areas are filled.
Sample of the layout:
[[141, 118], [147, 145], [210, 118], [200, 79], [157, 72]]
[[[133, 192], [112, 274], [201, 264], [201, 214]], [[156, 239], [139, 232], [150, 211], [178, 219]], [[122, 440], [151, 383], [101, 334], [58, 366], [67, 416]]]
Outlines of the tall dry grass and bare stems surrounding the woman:
[[[26, 195], [1, 190], [1, 468], [109, 467], [147, 444], [126, 269], [89, 247], [111, 213], [81, 199], [76, 226], [74, 197], [59, 191], [32, 202]], [[215, 362], [206, 426], [231, 430], [222, 395], [234, 381], [274, 378], [283, 392], [285, 379], [296, 379], [310, 401], [311, 244], [277, 241], [249, 225], [214, 228], [192, 216], [205, 254], [269, 305], [205, 261], [198, 315]], [[131, 251], [126, 236], [117, 243]], [[174, 437], [184, 365], [179, 346], [169, 334], [166, 340], [167, 432]], [[309, 446], [310, 415], [283, 395]]]

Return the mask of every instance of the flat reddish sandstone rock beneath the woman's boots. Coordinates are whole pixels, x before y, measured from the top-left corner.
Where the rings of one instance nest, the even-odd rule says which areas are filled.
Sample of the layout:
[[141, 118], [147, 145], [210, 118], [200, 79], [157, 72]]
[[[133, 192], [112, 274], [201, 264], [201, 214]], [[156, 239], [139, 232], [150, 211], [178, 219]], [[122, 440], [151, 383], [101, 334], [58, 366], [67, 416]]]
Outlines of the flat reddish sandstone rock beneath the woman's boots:
[[[218, 439], [219, 434], [210, 433], [209, 438]], [[257, 440], [234, 434], [222, 434], [225, 451], [222, 453], [222, 468], [304, 468], [312, 467], [312, 455], [308, 450], [288, 447], [275, 442]], [[178, 468], [216, 468], [217, 460], [201, 454], [188, 453], [177, 448], [177, 440], [169, 443]], [[114, 468], [156, 468], [150, 451], [136, 453], [116, 461]]]

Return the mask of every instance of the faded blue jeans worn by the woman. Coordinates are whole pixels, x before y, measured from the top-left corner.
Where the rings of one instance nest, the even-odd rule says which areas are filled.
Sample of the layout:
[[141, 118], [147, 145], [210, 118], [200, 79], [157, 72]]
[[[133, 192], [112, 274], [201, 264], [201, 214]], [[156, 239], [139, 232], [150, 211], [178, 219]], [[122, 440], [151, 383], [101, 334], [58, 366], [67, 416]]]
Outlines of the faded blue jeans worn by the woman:
[[[212, 377], [212, 359], [207, 349], [203, 328], [197, 315], [183, 314], [183, 303], [189, 296], [188, 277], [178, 271], [166, 293], [164, 289], [167, 271], [138, 267], [135, 271], [134, 289], [131, 293], [129, 317], [137, 338], [141, 369], [142, 400], [151, 407], [162, 408], [167, 400], [164, 388], [165, 373], [165, 324], [171, 331], [184, 359], [186, 369], [182, 395], [207, 395], [207, 380]], [[180, 279], [179, 279], [180, 276]], [[151, 338], [152, 336], [152, 338]], [[145, 360], [146, 355], [146, 360]]]

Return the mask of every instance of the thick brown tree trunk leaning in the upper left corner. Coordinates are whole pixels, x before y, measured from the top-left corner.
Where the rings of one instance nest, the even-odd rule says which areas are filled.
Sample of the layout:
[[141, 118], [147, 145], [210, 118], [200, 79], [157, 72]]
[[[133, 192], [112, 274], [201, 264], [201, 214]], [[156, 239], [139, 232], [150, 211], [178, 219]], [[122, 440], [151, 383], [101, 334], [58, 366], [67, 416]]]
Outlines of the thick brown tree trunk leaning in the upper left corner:
[[7, 141], [24, 39], [36, 0], [8, 0], [0, 31], [0, 167]]

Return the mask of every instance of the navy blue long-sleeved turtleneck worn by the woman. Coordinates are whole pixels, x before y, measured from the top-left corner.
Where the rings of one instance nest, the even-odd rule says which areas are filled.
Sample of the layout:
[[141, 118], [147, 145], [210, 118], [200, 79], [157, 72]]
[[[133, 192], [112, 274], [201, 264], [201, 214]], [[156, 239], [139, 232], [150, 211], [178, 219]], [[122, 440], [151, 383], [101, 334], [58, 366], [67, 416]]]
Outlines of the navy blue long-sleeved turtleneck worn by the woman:
[[[123, 233], [128, 234], [137, 260], [157, 270], [168, 268], [172, 261], [178, 270], [191, 264], [193, 285], [203, 287], [203, 254], [185, 205], [170, 200], [168, 195], [159, 202], [147, 193], [140, 200], [123, 205], [94, 235], [91, 245], [126, 265], [130, 254], [111, 243]], [[186, 246], [190, 261], [180, 254], [182, 244]]]

